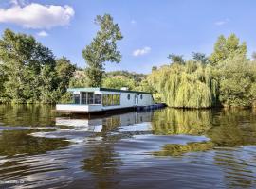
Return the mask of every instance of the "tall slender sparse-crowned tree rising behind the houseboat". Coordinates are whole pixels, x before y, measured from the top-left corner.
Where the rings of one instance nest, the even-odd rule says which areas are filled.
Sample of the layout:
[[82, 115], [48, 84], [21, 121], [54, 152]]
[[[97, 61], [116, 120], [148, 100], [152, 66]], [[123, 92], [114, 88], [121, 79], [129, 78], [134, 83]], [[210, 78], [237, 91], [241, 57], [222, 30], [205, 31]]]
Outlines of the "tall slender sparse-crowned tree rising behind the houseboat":
[[82, 57], [87, 63], [85, 73], [91, 87], [101, 86], [104, 62], [120, 62], [121, 54], [117, 49], [117, 41], [123, 38], [118, 24], [114, 24], [109, 14], [98, 15], [95, 23], [100, 26], [100, 30], [92, 43], [82, 50]]

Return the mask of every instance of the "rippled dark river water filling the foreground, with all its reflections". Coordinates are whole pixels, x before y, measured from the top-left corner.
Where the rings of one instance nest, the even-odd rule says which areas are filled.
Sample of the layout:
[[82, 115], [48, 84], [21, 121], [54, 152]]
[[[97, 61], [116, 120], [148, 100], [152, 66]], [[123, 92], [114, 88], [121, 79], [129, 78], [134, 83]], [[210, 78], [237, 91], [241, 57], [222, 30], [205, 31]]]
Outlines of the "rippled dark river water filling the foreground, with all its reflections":
[[255, 188], [256, 111], [0, 106], [0, 188]]

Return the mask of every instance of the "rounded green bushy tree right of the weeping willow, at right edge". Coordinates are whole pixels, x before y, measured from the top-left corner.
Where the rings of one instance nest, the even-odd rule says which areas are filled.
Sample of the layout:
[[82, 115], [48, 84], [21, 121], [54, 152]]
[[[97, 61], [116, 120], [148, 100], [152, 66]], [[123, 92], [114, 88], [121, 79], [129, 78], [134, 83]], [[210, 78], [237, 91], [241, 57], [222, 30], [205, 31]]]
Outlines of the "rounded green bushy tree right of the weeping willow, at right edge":
[[[255, 69], [254, 62], [249, 62], [243, 55], [221, 62], [215, 68], [219, 81], [219, 99], [224, 106], [250, 107], [255, 94], [254, 89]], [[254, 65], [255, 66], [255, 65]]]

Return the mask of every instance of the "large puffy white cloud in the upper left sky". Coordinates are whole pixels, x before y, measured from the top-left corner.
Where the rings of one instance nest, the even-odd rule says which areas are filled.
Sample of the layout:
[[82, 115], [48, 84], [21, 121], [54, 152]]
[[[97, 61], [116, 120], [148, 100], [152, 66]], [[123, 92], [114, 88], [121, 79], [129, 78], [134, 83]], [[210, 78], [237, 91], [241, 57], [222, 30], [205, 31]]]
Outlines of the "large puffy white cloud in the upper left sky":
[[12, 6], [0, 9], [0, 23], [12, 23], [27, 28], [52, 28], [66, 26], [70, 23], [75, 11], [70, 6], [25, 4], [23, 0], [11, 0]]

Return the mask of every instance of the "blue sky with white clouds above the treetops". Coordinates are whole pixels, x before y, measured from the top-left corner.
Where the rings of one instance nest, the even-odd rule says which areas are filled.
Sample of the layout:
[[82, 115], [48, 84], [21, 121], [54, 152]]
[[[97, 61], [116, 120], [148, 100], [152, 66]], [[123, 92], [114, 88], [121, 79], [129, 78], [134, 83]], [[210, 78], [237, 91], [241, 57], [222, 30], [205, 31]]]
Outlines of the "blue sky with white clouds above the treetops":
[[33, 35], [56, 57], [85, 67], [82, 49], [96, 35], [96, 15], [109, 13], [123, 39], [119, 64], [106, 71], [150, 73], [169, 63], [169, 54], [210, 55], [217, 37], [235, 33], [256, 51], [255, 0], [0, 0], [0, 33], [6, 28]]

